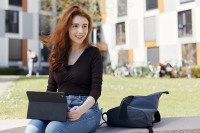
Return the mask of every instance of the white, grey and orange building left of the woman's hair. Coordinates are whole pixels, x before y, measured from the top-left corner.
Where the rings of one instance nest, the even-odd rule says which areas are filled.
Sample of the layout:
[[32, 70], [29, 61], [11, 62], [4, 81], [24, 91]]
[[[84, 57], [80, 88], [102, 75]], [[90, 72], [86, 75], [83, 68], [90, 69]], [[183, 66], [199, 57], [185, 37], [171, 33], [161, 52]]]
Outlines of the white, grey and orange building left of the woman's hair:
[[[43, 11], [40, 0], [0, 1], [0, 67], [27, 68], [27, 50], [38, 56], [36, 69], [48, 67], [49, 50], [39, 36], [41, 31], [51, 31], [48, 17], [50, 11]], [[53, 8], [52, 8], [53, 10]]]

